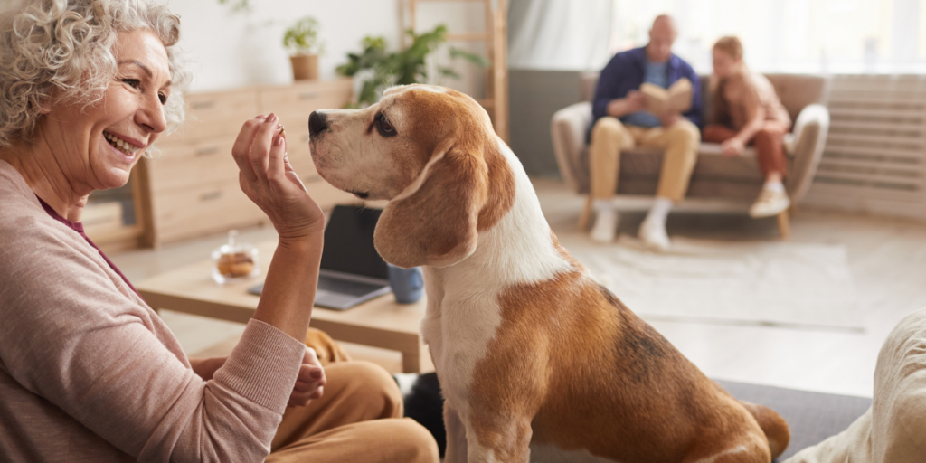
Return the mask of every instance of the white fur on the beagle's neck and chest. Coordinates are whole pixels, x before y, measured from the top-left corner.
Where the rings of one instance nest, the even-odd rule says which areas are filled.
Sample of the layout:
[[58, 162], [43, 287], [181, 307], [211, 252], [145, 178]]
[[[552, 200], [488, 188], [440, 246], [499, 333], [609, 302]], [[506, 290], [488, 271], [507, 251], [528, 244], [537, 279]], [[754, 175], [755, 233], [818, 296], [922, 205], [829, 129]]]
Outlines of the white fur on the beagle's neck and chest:
[[444, 395], [463, 415], [476, 365], [492, 355], [490, 345], [502, 324], [500, 296], [519, 284], [551, 281], [570, 269], [553, 244], [518, 158], [505, 144], [499, 142], [499, 148], [515, 175], [511, 210], [493, 228], [480, 232], [472, 255], [443, 269], [425, 268], [428, 313], [421, 332]]

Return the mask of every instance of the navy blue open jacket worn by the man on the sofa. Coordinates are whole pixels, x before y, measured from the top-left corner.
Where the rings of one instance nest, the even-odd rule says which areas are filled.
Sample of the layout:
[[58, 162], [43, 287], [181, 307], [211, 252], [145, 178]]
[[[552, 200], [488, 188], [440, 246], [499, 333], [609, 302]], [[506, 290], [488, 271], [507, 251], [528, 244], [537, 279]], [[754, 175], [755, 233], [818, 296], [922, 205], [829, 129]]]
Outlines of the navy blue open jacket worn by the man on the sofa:
[[[592, 116], [594, 122], [607, 116], [607, 104], [611, 100], [623, 98], [631, 90], [640, 90], [640, 85], [644, 82], [646, 74], [646, 48], [633, 48], [626, 52], [621, 52], [611, 58], [605, 69], [602, 69], [598, 78], [598, 86], [594, 91], [592, 100]], [[679, 56], [669, 56], [668, 65], [668, 85], [671, 86], [682, 77], [692, 82], [692, 107], [688, 112], [682, 114], [685, 118], [691, 120], [694, 125], [701, 126], [701, 85], [697, 74], [694, 73], [691, 65], [684, 62]], [[627, 115], [620, 118], [625, 124], [631, 124]], [[591, 134], [591, 131], [589, 131]]]

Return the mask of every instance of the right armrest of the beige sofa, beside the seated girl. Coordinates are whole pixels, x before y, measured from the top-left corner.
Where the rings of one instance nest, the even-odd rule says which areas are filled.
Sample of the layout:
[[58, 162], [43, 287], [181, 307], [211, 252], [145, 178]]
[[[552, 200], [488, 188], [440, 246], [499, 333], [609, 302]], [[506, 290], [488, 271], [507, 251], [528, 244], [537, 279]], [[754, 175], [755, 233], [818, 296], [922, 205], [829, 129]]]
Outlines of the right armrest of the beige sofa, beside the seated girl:
[[813, 182], [829, 131], [830, 111], [826, 106], [809, 105], [797, 116], [793, 136], [786, 143], [793, 158], [785, 185], [795, 203], [807, 194]]

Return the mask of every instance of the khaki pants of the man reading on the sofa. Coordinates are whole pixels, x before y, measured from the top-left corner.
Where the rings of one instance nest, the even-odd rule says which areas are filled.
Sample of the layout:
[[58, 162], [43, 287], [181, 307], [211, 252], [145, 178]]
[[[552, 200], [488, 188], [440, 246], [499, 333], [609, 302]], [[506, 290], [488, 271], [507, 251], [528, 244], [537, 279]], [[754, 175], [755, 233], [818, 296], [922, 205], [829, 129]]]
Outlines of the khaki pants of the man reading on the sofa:
[[688, 190], [701, 133], [691, 121], [682, 119], [668, 128], [625, 126], [617, 118], [598, 119], [592, 129], [589, 146], [592, 198], [609, 199], [618, 190], [620, 151], [634, 146], [663, 150], [657, 196], [678, 202]]

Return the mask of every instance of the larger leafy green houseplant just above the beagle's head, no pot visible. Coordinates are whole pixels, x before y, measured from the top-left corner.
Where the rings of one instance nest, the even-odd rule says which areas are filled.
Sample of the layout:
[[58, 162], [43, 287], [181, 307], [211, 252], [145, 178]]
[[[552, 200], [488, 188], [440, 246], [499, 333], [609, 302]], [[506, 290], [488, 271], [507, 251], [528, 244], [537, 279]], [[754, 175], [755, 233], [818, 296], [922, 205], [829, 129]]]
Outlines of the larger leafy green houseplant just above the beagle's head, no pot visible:
[[[463, 59], [486, 67], [488, 62], [482, 56], [458, 48], [449, 49], [450, 63], [436, 67], [437, 75], [429, 75], [427, 59], [447, 41], [446, 26], [439, 25], [433, 31], [408, 30], [412, 43], [404, 50], [386, 52], [386, 41], [382, 37], [366, 37], [361, 42], [363, 51], [347, 54], [347, 62], [337, 68], [338, 74], [362, 81], [357, 94], [357, 107], [369, 106], [379, 99], [382, 90], [391, 85], [408, 83], [440, 83], [443, 78], [459, 79], [453, 69], [457, 59]], [[433, 78], [433, 79], [432, 79]]]

